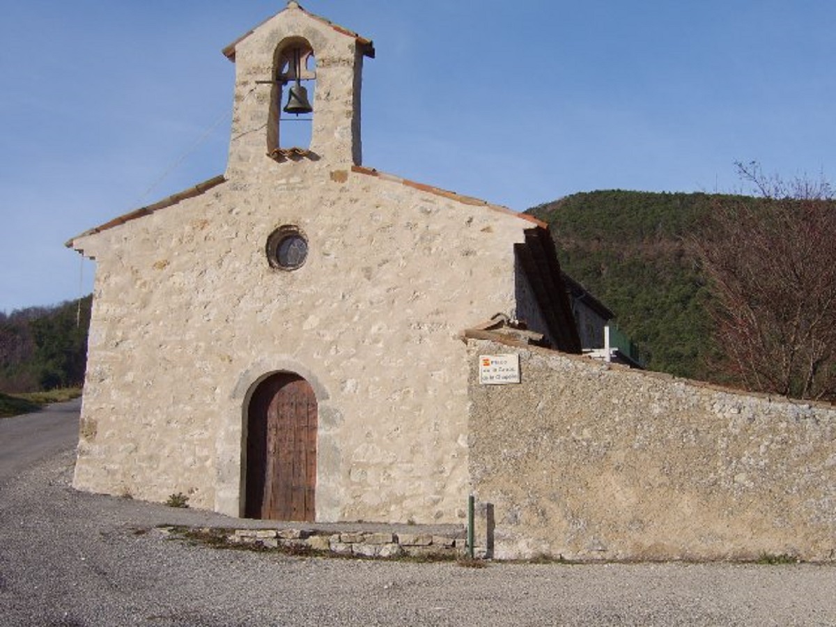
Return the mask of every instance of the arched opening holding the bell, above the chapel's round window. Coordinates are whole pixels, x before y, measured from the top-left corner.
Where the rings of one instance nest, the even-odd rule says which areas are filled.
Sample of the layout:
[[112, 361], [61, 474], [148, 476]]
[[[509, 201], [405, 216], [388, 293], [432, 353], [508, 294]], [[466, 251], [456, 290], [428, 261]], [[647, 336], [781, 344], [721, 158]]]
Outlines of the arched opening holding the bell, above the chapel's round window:
[[306, 39], [288, 38], [273, 57], [273, 89], [268, 117], [268, 154], [303, 155], [314, 129], [316, 57]]

